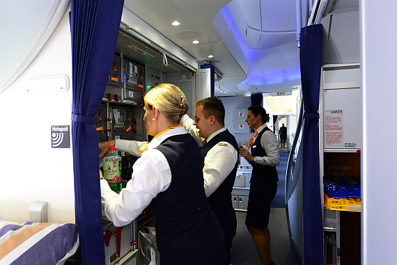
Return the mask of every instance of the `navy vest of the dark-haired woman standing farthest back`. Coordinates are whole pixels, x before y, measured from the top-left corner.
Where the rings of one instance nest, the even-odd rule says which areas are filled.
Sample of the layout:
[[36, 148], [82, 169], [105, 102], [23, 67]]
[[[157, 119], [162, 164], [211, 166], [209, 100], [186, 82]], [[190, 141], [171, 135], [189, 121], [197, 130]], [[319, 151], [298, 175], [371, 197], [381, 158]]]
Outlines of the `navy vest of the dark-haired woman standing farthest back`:
[[[260, 138], [265, 133], [265, 131], [270, 131], [268, 127], [265, 127], [254, 141], [251, 147], [251, 155], [253, 156], [267, 156], [265, 149], [260, 145]], [[276, 166], [260, 165], [258, 163], [252, 163], [252, 175], [251, 184], [256, 183], [269, 183], [278, 182], [279, 176], [277, 175]]]

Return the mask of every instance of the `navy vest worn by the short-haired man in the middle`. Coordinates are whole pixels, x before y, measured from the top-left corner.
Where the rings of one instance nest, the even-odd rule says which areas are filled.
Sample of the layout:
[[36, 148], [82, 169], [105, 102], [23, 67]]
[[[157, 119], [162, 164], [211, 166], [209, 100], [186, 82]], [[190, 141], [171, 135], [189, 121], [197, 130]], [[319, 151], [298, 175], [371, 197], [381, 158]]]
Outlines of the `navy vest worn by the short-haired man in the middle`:
[[[230, 143], [235, 150], [238, 151], [238, 144], [234, 138], [234, 136], [226, 129], [226, 131], [222, 131], [221, 133], [217, 134], [214, 138], [212, 138], [208, 143], [200, 147], [201, 151], [201, 160], [204, 167], [204, 159], [207, 155], [208, 151], [219, 142], [227, 142]], [[226, 147], [225, 147], [226, 148]], [[235, 211], [233, 209], [233, 204], [231, 202], [231, 191], [233, 189], [233, 184], [235, 182], [235, 174], [237, 172], [238, 161], [236, 161], [233, 170], [230, 174], [224, 179], [224, 182], [217, 188], [214, 193], [207, 198], [208, 203], [210, 204], [212, 211], [214, 211], [215, 215], [221, 222], [221, 216], [225, 218], [233, 217], [235, 218]], [[225, 216], [226, 213], [227, 214]], [[222, 223], [222, 222], [221, 222]]]

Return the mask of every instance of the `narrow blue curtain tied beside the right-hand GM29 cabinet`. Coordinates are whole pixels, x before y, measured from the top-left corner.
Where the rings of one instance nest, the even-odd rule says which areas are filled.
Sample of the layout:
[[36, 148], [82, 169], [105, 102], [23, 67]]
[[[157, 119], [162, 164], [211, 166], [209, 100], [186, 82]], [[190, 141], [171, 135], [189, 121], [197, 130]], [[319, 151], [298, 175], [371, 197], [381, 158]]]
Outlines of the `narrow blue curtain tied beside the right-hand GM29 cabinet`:
[[322, 24], [306, 26], [300, 33], [300, 72], [304, 103], [303, 230], [304, 264], [322, 265], [322, 201], [318, 157], [318, 97], [322, 56]]

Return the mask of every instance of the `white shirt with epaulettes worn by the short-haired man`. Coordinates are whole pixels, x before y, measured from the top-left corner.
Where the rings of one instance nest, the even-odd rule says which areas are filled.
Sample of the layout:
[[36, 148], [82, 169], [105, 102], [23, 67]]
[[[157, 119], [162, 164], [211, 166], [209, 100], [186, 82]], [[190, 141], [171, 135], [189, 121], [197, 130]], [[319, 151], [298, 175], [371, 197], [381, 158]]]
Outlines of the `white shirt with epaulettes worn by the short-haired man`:
[[[189, 131], [194, 138], [196, 138], [197, 143], [201, 145], [203, 138], [198, 136], [198, 129], [193, 125], [193, 120], [189, 118], [189, 116], [183, 115], [182, 119], [180, 120], [180, 124], [183, 125], [183, 127], [185, 127], [185, 129]], [[221, 133], [222, 131], [226, 131], [226, 127], [219, 129], [218, 131], [215, 131], [215, 133], [208, 136], [207, 143], [209, 143], [212, 138], [217, 136], [217, 134]], [[214, 145], [208, 151], [204, 158], [203, 167], [204, 189], [207, 198], [217, 190], [222, 182], [224, 182], [226, 177], [233, 170], [237, 160], [238, 152], [235, 150], [235, 147], [224, 141]]]

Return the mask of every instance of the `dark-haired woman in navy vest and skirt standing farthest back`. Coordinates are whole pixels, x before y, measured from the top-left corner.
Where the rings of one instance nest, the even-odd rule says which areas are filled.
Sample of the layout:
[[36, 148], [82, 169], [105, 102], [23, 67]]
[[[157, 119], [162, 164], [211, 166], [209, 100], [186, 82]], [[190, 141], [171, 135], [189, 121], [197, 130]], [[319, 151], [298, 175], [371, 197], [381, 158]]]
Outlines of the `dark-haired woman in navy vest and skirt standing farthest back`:
[[239, 146], [240, 156], [252, 166], [245, 225], [254, 239], [260, 265], [274, 265], [270, 255], [270, 231], [267, 225], [270, 204], [276, 195], [279, 181], [276, 169], [280, 163], [278, 140], [266, 125], [269, 122], [269, 115], [262, 106], [250, 106], [245, 122], [249, 128], [255, 129], [247, 149], [242, 145]]

